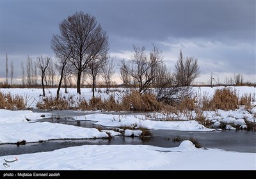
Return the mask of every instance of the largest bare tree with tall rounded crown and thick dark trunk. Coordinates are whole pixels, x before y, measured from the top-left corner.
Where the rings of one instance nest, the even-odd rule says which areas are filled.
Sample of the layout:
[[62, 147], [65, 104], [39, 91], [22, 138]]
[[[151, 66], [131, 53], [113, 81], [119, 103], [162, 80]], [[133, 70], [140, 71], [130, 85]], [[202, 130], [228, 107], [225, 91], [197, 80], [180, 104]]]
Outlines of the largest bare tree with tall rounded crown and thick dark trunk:
[[72, 65], [72, 73], [77, 75], [77, 93], [81, 94], [81, 75], [90, 61], [107, 54], [108, 35], [95, 17], [83, 12], [68, 16], [59, 27], [60, 35], [53, 35], [52, 41], [58, 40], [56, 44], [71, 51], [68, 61]]

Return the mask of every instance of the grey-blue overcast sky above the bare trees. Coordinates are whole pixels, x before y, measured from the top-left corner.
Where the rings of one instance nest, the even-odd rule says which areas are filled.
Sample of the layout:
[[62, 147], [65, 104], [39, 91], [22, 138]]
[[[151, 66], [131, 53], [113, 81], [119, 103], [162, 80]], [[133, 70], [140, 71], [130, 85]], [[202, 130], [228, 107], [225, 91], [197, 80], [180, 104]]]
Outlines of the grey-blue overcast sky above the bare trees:
[[130, 58], [132, 45], [150, 51], [154, 43], [172, 70], [180, 49], [184, 56], [198, 58], [201, 76], [196, 81], [209, 81], [213, 72], [221, 82], [234, 73], [255, 82], [255, 9], [255, 1], [1, 0], [1, 77], [6, 52], [17, 77], [20, 61], [28, 55], [53, 58], [50, 44], [52, 34], [59, 33], [58, 24], [83, 11], [108, 33], [116, 65]]

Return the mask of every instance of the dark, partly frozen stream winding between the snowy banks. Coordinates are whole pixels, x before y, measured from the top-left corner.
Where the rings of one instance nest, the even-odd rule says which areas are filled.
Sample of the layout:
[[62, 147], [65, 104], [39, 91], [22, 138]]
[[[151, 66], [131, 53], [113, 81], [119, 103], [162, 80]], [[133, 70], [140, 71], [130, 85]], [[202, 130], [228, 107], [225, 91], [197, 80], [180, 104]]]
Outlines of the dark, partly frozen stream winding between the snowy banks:
[[[42, 112], [41, 112], [42, 113]], [[67, 125], [78, 125], [81, 127], [95, 127], [93, 121], [75, 121], [72, 117], [83, 115], [76, 111], [48, 111], [54, 117], [58, 116], [61, 120], [52, 120], [45, 118], [41, 121], [52, 121], [65, 123]], [[94, 112], [92, 112], [94, 113]], [[88, 114], [88, 113], [86, 113]], [[127, 113], [128, 114], [128, 113]], [[131, 113], [130, 113], [131, 114]], [[68, 116], [68, 117], [67, 117]], [[174, 137], [182, 137], [188, 139], [194, 137], [205, 148], [220, 148], [236, 152], [256, 152], [256, 136], [255, 132], [246, 131], [214, 131], [214, 132], [191, 132], [179, 130], [150, 130], [152, 137], [141, 140], [139, 137], [116, 136], [112, 139], [86, 139], [86, 140], [53, 140], [44, 143], [28, 143], [26, 145], [17, 146], [16, 144], [1, 144], [0, 153], [3, 155], [18, 155], [22, 153], [48, 152], [60, 148], [70, 146], [80, 146], [86, 144], [147, 144], [161, 147], [179, 146], [181, 142], [173, 142]]]

